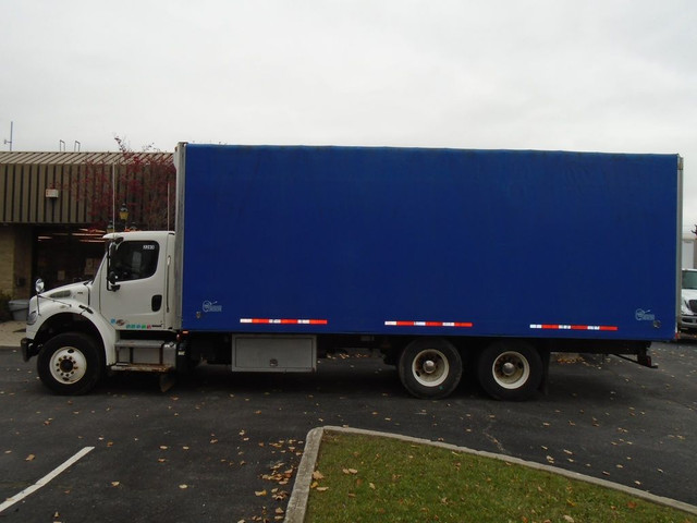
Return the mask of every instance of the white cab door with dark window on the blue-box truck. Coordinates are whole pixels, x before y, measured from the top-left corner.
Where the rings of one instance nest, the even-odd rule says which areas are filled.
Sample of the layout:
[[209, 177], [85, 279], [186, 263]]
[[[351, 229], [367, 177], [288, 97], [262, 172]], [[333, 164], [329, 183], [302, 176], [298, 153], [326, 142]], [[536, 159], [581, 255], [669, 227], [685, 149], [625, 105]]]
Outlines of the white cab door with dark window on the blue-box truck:
[[99, 295], [101, 315], [114, 329], [164, 328], [167, 258], [167, 244], [146, 238], [112, 250]]

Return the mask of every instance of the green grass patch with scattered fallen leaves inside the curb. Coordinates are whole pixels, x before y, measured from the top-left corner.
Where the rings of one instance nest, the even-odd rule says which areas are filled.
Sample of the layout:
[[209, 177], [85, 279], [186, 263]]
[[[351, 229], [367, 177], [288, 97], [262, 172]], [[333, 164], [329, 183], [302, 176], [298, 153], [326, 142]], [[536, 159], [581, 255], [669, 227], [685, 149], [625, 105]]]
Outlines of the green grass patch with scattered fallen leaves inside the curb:
[[519, 464], [326, 431], [311, 522], [697, 523], [680, 510]]

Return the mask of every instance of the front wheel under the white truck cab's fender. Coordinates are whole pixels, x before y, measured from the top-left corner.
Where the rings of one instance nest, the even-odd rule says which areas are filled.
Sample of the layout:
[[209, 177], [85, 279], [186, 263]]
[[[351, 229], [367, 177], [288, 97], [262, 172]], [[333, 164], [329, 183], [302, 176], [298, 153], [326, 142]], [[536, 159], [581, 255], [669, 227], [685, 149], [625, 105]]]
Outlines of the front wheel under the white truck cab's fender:
[[89, 392], [105, 369], [101, 348], [82, 332], [65, 332], [48, 340], [36, 365], [44, 385], [65, 396]]

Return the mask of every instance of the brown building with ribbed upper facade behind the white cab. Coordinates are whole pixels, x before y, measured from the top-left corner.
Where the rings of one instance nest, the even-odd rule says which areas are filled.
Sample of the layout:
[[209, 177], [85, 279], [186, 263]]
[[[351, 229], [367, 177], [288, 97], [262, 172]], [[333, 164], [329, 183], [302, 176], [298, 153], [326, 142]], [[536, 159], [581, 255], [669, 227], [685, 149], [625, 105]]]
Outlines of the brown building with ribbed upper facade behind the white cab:
[[171, 153], [0, 153], [0, 294], [88, 279], [110, 227], [173, 229], [173, 172]]

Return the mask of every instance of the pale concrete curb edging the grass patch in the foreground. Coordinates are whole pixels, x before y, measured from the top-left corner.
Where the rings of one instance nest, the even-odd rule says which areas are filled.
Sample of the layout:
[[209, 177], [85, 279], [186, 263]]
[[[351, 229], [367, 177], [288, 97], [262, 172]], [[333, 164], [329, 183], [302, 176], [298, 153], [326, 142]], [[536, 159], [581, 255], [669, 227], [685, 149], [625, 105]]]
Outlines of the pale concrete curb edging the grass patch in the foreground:
[[566, 471], [564, 469], [558, 469], [558, 467], [545, 465], [541, 463], [521, 460], [519, 458], [513, 458], [513, 457], [503, 455], [503, 454], [494, 454], [492, 452], [485, 452], [481, 450], [468, 449], [466, 447], [457, 447], [455, 445], [443, 443], [439, 441], [430, 441], [428, 439], [412, 438], [409, 436], [401, 436], [401, 435], [390, 434], [390, 433], [379, 433], [377, 430], [365, 430], [362, 428], [351, 428], [351, 427], [326, 426], [326, 427], [313, 428], [307, 434], [307, 438], [305, 442], [305, 451], [303, 452], [303, 459], [301, 460], [301, 464], [297, 469], [295, 485], [293, 486], [293, 492], [291, 494], [291, 499], [289, 500], [288, 509], [285, 511], [285, 523], [303, 523], [303, 521], [305, 521], [305, 512], [307, 510], [307, 500], [309, 498], [310, 485], [313, 484], [313, 472], [315, 472], [315, 466], [317, 464], [317, 457], [319, 454], [319, 448], [326, 430], [332, 431], [332, 433], [359, 434], [365, 436], [392, 438], [392, 439], [399, 439], [401, 441], [406, 441], [409, 443], [429, 445], [431, 447], [439, 447], [441, 449], [447, 449], [454, 452], [464, 452], [468, 454], [481, 455], [485, 458], [493, 458], [496, 460], [505, 461], [508, 463], [515, 463], [518, 465], [528, 466], [530, 469], [536, 469], [538, 471], [549, 472], [552, 474], [567, 477], [570, 479], [577, 479], [580, 482], [590, 483], [592, 485], [598, 485], [606, 488], [612, 488], [614, 490], [628, 494], [631, 496], [644, 499], [646, 501], [663, 504], [665, 507], [682, 510], [684, 512], [688, 512], [690, 514], [697, 515], [697, 507], [695, 507], [694, 504], [684, 503], [683, 501], [664, 498], [662, 496], [656, 496], [653, 494], [646, 492], [644, 490], [627, 487], [625, 485], [620, 485], [617, 483], [608, 482], [607, 479], [600, 479], [598, 477], [591, 477], [591, 476], [586, 476], [584, 474], [578, 474], [577, 472]]

